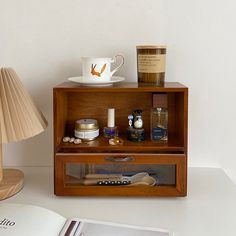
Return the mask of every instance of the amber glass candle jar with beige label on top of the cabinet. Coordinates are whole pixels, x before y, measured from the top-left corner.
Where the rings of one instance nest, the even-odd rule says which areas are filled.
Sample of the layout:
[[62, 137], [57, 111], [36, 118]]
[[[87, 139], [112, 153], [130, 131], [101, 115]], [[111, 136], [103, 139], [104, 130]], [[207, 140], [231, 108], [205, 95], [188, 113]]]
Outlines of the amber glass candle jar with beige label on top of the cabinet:
[[137, 46], [138, 82], [164, 86], [166, 46]]

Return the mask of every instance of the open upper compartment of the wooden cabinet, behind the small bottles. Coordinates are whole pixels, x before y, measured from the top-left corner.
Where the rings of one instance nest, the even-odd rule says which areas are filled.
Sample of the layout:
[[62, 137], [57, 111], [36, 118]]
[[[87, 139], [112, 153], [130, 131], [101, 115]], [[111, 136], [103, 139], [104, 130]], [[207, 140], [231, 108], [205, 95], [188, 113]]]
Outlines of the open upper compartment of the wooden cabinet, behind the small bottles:
[[[103, 127], [107, 126], [107, 109], [109, 107], [116, 109], [116, 125], [124, 139], [126, 139], [124, 134], [126, 134], [128, 128], [128, 114], [137, 108], [142, 109], [145, 136], [148, 140], [150, 139], [150, 111], [153, 103], [166, 106], [168, 109], [169, 144], [167, 146], [170, 148], [171, 146], [186, 148], [187, 110], [185, 91], [158, 93], [153, 89], [153, 92], [111, 93], [95, 90], [94, 93], [76, 93], [56, 90], [54, 96], [54, 135], [56, 148], [61, 146], [61, 140], [64, 136], [74, 136], [75, 121], [78, 119], [91, 118], [98, 120], [100, 136], [102, 136]], [[98, 143], [103, 145], [103, 142]], [[152, 145], [149, 142], [146, 144], [149, 147]], [[137, 144], [132, 144], [132, 142], [129, 145], [138, 146]]]

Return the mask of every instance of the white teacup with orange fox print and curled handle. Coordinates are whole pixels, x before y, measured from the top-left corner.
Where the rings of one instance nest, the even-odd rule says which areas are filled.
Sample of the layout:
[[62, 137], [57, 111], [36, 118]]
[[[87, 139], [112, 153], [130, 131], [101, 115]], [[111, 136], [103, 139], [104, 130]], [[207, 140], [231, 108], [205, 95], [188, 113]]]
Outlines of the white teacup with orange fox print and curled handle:
[[[111, 63], [116, 62], [116, 58], [122, 59], [119, 66], [111, 71]], [[82, 73], [85, 80], [90, 81], [110, 81], [111, 77], [124, 65], [124, 57], [117, 54], [114, 58], [82, 57]]]

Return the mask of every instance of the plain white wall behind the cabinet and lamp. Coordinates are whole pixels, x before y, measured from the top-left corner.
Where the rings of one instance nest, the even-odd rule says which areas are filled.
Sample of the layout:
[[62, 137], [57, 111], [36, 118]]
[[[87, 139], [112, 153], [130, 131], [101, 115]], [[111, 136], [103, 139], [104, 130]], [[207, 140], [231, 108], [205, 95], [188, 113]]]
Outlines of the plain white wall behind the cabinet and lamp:
[[221, 166], [236, 182], [236, 2], [233, 0], [0, 0], [0, 66], [14, 67], [49, 121], [4, 145], [5, 165], [52, 165], [52, 87], [81, 74], [81, 56], [168, 45], [167, 81], [189, 87], [189, 164]]

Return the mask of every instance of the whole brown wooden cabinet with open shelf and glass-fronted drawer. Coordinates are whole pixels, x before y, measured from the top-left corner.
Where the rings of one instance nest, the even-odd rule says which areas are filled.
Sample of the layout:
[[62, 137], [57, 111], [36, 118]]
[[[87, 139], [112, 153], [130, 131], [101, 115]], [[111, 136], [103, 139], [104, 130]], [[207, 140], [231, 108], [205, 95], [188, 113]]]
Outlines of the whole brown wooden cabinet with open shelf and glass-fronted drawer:
[[[54, 188], [56, 195], [70, 196], [186, 196], [188, 89], [179, 83], [152, 87], [120, 83], [112, 87], [82, 87], [66, 82], [54, 88]], [[168, 142], [150, 140], [153, 105], [168, 109]], [[123, 145], [111, 146], [103, 137], [107, 109], [115, 108], [116, 125]], [[127, 116], [143, 110], [145, 141], [127, 140]], [[78, 119], [96, 119], [97, 139], [82, 144], [63, 143], [74, 136]], [[88, 174], [134, 176], [147, 172], [154, 185], [87, 184]]]

